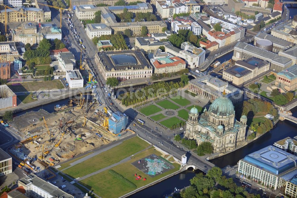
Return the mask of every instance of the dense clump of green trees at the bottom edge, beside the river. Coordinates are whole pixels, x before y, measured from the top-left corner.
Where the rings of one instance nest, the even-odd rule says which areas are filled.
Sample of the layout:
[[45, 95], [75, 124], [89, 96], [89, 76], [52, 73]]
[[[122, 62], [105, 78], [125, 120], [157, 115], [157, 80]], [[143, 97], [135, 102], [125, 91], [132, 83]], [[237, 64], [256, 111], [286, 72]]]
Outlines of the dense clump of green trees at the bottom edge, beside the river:
[[222, 170], [216, 166], [206, 175], [197, 174], [190, 183], [191, 186], [181, 191], [182, 198], [260, 198], [259, 194], [249, 194], [244, 187], [237, 186], [232, 178], [222, 176]]

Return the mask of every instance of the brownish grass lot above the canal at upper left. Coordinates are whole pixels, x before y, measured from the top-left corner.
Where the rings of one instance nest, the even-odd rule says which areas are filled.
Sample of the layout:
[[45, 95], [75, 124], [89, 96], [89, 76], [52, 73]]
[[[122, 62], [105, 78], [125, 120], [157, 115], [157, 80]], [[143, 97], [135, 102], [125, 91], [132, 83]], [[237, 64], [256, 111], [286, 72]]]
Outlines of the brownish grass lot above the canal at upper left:
[[7, 86], [13, 92], [31, 92], [38, 90], [64, 89], [64, 85], [60, 80], [24, 82], [17, 83], [17, 85], [7, 84]]

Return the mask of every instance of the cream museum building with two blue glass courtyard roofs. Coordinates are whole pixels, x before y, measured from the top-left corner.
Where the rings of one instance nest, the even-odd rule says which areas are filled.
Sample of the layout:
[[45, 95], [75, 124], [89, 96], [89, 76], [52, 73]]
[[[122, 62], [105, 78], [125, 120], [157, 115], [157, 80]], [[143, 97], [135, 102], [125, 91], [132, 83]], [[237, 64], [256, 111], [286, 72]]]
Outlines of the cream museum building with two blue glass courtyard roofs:
[[223, 79], [242, 86], [247, 81], [268, 71], [270, 62], [251, 57], [247, 60], [238, 60], [235, 65], [223, 70]]

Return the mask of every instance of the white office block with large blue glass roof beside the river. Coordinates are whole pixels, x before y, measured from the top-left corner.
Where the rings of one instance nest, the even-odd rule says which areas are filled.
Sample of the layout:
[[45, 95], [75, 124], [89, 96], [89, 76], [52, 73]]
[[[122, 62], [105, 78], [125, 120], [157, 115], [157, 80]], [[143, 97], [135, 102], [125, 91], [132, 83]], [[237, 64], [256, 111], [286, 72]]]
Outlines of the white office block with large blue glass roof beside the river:
[[286, 184], [287, 177], [296, 170], [296, 162], [295, 155], [277, 147], [267, 146], [241, 159], [237, 171], [276, 190]]

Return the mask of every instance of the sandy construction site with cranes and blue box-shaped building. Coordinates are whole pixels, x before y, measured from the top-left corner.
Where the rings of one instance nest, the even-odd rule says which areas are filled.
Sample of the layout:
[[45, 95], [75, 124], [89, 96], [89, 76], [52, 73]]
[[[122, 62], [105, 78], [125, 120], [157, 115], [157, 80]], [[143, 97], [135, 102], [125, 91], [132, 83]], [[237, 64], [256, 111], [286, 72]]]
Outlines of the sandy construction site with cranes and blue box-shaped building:
[[9, 153], [22, 161], [19, 167], [26, 172], [54, 166], [135, 133], [126, 128], [126, 115], [94, 101], [92, 93], [80, 94], [67, 105], [56, 105], [55, 110], [31, 111], [10, 122], [25, 140]]

